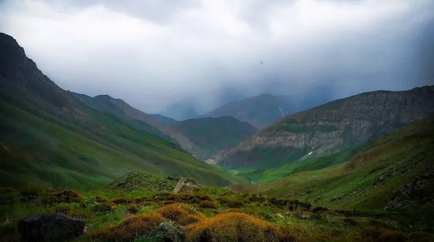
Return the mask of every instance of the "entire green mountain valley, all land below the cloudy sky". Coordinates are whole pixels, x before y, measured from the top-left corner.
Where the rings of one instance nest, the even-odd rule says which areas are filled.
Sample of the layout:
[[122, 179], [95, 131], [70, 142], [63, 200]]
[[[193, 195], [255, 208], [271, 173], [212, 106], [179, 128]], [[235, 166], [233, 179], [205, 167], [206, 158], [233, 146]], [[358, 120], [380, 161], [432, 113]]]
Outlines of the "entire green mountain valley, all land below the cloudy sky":
[[0, 33], [0, 238], [433, 241], [434, 86], [298, 102], [148, 114], [60, 88]]

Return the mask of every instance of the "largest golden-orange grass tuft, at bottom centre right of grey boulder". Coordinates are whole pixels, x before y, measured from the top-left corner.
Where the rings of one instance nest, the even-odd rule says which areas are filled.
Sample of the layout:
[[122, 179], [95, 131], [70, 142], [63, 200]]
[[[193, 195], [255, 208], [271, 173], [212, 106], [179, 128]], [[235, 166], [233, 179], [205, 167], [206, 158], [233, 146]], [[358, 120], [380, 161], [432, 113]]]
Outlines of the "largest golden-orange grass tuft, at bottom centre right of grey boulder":
[[187, 226], [189, 241], [298, 241], [290, 227], [279, 227], [246, 213], [221, 213]]

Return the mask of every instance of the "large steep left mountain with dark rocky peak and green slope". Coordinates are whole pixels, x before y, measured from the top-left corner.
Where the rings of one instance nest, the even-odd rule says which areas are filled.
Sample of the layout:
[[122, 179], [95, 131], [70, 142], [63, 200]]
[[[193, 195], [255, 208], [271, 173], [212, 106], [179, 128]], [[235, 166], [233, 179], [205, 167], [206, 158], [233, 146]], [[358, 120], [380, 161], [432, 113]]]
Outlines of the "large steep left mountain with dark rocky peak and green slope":
[[89, 189], [132, 171], [217, 186], [243, 181], [84, 104], [44, 75], [3, 33], [0, 132], [0, 186], [47, 183]]

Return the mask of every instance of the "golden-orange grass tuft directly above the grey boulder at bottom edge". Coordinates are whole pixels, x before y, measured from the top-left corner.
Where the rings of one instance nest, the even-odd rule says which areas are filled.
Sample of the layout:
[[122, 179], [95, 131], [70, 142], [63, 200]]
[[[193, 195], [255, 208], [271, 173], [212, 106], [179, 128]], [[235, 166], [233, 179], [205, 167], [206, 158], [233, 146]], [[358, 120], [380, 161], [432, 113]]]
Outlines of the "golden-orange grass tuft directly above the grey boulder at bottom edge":
[[156, 212], [161, 213], [165, 219], [171, 220], [182, 226], [205, 220], [205, 216], [202, 213], [193, 210], [190, 206], [185, 204], [170, 204], [158, 208]]

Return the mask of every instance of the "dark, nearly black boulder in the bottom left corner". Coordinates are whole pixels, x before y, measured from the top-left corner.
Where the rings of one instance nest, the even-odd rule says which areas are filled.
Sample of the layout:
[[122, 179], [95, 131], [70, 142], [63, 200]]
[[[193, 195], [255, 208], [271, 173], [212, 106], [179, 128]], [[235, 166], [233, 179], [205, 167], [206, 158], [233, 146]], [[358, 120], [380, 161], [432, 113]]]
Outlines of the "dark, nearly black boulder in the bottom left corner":
[[18, 222], [24, 241], [65, 241], [83, 234], [84, 222], [58, 213], [37, 213]]

